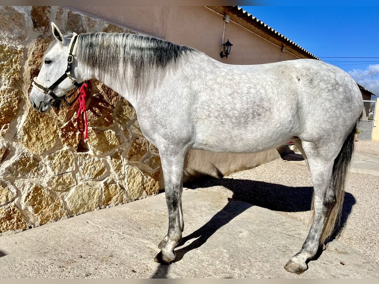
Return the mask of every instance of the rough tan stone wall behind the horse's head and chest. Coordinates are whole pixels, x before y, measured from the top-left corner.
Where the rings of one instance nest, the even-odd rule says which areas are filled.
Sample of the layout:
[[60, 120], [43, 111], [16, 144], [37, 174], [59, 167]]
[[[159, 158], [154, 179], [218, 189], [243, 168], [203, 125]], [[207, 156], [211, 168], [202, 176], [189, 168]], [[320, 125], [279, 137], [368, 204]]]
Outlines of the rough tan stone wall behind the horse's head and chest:
[[121, 96], [88, 82], [88, 142], [76, 100], [45, 114], [28, 102], [51, 21], [78, 34], [131, 31], [55, 6], [2, 6], [0, 14], [0, 234], [156, 194], [158, 150]]

